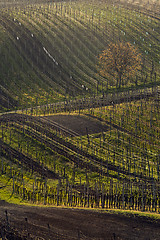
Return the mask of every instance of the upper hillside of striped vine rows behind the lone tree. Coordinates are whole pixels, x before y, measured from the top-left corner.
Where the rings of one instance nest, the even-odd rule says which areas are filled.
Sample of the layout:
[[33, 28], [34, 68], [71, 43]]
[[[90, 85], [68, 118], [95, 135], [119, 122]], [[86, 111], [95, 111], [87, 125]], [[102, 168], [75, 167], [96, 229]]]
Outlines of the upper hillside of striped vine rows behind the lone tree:
[[114, 89], [112, 77], [99, 75], [97, 56], [119, 39], [143, 56], [142, 71], [123, 87], [159, 83], [159, 5], [44, 2], [1, 6], [1, 111]]

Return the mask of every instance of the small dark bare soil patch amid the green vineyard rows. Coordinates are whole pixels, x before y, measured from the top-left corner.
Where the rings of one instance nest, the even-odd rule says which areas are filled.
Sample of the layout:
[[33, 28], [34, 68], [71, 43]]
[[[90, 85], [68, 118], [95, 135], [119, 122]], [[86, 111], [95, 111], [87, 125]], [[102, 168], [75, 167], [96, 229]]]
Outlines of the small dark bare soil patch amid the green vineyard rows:
[[78, 133], [79, 135], [86, 135], [86, 128], [88, 130], [88, 134], [108, 131], [108, 126], [102, 124], [101, 121], [82, 115], [52, 115], [45, 118], [54, 121], [61, 126]]

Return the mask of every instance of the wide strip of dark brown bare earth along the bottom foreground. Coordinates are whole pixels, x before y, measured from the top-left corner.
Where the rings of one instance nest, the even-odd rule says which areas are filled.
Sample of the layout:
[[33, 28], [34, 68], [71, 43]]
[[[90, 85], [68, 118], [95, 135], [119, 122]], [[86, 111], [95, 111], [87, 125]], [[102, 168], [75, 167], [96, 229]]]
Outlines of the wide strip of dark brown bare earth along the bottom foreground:
[[[56, 207], [27, 207], [0, 201], [0, 219], [37, 239], [159, 240], [160, 220]], [[30, 238], [27, 238], [30, 239]]]

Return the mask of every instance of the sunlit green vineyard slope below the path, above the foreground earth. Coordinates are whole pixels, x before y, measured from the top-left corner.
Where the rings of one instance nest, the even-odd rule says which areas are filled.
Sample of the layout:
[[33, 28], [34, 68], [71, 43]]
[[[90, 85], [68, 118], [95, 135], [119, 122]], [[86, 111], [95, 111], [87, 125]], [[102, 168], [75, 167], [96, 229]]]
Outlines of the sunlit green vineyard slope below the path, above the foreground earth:
[[2, 115], [2, 181], [37, 204], [159, 212], [159, 116], [158, 89], [69, 115]]

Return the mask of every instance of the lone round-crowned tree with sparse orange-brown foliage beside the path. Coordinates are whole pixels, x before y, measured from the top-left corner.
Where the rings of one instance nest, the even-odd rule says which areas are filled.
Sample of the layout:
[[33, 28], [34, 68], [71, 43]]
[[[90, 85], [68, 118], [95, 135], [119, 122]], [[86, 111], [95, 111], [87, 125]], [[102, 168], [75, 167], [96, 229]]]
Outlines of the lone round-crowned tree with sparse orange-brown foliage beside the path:
[[119, 88], [141, 69], [141, 54], [129, 42], [109, 44], [98, 59], [100, 74], [106, 78], [114, 77]]

